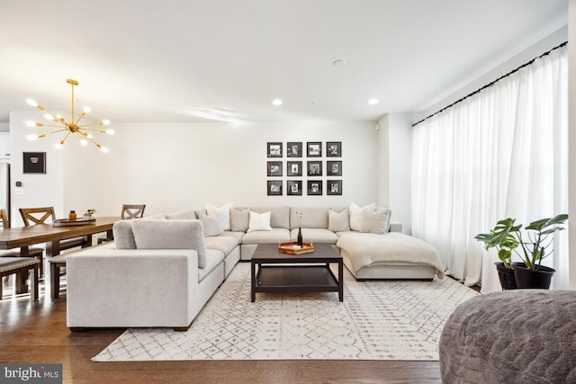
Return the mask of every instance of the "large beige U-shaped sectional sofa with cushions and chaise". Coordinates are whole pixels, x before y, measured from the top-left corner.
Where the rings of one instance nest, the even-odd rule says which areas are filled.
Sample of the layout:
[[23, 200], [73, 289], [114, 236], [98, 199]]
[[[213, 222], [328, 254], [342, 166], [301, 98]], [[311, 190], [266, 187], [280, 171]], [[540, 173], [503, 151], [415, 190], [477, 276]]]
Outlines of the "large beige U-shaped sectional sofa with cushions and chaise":
[[436, 250], [401, 233], [391, 211], [358, 207], [213, 207], [114, 225], [114, 243], [67, 258], [67, 326], [187, 329], [258, 244], [337, 247], [358, 280], [444, 277]]

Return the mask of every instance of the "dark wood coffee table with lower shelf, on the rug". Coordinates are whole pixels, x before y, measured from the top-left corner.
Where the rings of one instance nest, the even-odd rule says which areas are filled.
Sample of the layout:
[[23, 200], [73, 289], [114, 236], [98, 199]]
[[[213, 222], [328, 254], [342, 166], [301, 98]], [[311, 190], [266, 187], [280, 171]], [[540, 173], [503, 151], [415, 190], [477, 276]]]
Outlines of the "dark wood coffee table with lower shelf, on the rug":
[[[330, 263], [338, 263], [338, 277]], [[252, 302], [256, 292], [338, 292], [344, 301], [342, 256], [329, 244], [315, 243], [314, 252], [303, 255], [281, 254], [278, 244], [259, 244], [250, 266]]]

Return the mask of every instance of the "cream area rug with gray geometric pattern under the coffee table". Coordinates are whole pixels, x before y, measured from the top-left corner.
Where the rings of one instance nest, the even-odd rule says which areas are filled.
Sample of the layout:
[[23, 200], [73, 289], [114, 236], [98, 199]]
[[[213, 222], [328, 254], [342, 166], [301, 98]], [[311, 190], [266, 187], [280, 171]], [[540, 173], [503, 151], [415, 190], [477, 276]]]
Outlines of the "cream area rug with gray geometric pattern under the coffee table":
[[167, 360], [438, 360], [446, 318], [477, 295], [457, 281], [356, 281], [338, 293], [257, 293], [238, 263], [187, 332], [130, 328], [95, 362]]

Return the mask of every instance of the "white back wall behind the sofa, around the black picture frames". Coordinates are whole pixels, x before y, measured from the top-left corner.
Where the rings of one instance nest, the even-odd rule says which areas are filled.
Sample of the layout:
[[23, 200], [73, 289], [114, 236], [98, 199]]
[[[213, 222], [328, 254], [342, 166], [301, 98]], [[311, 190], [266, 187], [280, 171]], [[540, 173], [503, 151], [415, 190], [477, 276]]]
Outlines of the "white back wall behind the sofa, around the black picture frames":
[[[31, 117], [30, 117], [31, 113]], [[49, 173], [26, 177], [22, 160], [14, 158], [23, 179], [24, 196], [14, 196], [13, 207], [55, 205], [58, 214], [95, 209], [100, 216], [120, 214], [122, 203], [146, 203], [146, 213], [202, 208], [205, 202], [222, 205], [348, 205], [350, 201], [367, 204], [377, 201], [378, 139], [374, 123], [298, 122], [298, 123], [119, 123], [113, 137], [97, 136], [110, 148], [107, 154], [94, 146], [80, 147], [70, 139], [64, 148], [50, 149], [56, 138], [28, 142], [25, 120], [38, 120], [37, 112], [11, 114], [13, 153], [23, 150], [47, 151]], [[18, 121], [22, 121], [19, 123]], [[290, 177], [286, 161], [266, 157], [269, 141], [321, 141], [326, 166], [326, 141], [342, 142], [342, 196], [326, 195], [326, 169], [323, 170], [324, 194], [307, 196], [307, 176]], [[285, 150], [285, 148], [284, 148]], [[307, 159], [302, 160], [306, 165]], [[266, 162], [282, 160], [284, 176], [266, 176]], [[59, 164], [59, 170], [56, 165]], [[267, 196], [266, 180], [302, 180], [302, 196]], [[312, 179], [312, 178], [311, 178]], [[313, 178], [318, 179], [318, 178]], [[49, 191], [49, 192], [48, 192]], [[14, 225], [18, 225], [15, 223]]]

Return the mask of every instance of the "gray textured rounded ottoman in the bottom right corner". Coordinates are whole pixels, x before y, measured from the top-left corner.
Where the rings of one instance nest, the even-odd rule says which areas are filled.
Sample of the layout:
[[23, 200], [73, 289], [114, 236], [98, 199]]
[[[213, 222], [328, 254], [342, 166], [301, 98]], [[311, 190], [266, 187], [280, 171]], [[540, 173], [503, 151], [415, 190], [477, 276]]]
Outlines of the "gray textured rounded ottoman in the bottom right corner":
[[576, 291], [469, 299], [448, 317], [439, 352], [445, 383], [576, 383]]

